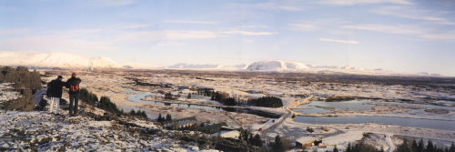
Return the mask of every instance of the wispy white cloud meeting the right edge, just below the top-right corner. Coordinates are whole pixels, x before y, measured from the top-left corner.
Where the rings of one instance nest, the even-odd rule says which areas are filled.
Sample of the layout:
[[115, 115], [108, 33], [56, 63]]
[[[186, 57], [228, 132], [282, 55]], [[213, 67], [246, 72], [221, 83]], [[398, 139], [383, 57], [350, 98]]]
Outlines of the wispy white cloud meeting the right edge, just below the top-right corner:
[[440, 25], [455, 25], [454, 22], [441, 17], [439, 15], [443, 13], [430, 11], [430, 10], [423, 10], [423, 9], [415, 9], [406, 6], [383, 6], [373, 10], [374, 13], [379, 15], [391, 15], [395, 17], [401, 18], [410, 18], [415, 20], [422, 20], [422, 21], [430, 21], [432, 23], [440, 24]]

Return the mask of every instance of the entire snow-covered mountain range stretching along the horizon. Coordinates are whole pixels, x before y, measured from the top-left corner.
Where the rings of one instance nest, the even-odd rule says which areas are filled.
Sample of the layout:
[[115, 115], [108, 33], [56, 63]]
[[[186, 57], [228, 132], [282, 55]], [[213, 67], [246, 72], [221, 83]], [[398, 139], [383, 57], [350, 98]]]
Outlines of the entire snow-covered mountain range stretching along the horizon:
[[351, 66], [311, 66], [298, 62], [268, 60], [258, 61], [250, 65], [193, 65], [179, 63], [173, 66], [157, 67], [141, 63], [117, 64], [106, 57], [86, 57], [64, 52], [11, 52], [0, 51], [0, 66], [32, 66], [54, 69], [94, 70], [106, 68], [118, 69], [192, 69], [218, 71], [251, 71], [251, 72], [281, 72], [281, 73], [319, 73], [319, 74], [360, 74], [360, 75], [399, 75], [399, 76], [440, 76], [438, 74], [418, 73], [399, 74], [383, 69], [364, 69]]

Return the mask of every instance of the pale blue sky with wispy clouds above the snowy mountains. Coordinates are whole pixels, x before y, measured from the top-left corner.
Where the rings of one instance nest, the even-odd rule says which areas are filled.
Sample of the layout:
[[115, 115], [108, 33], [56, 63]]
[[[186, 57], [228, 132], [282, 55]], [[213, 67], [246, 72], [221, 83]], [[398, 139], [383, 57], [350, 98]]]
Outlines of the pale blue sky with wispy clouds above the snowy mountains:
[[0, 51], [455, 76], [452, 0], [0, 0]]

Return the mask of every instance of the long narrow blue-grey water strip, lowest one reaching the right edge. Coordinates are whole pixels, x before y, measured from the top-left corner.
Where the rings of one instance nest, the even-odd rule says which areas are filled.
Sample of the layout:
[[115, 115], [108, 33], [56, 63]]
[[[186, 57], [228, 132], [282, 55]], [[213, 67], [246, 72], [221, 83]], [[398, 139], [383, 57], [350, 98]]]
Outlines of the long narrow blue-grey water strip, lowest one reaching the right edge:
[[295, 117], [294, 121], [308, 124], [379, 123], [403, 127], [424, 127], [455, 131], [455, 121], [404, 117]]

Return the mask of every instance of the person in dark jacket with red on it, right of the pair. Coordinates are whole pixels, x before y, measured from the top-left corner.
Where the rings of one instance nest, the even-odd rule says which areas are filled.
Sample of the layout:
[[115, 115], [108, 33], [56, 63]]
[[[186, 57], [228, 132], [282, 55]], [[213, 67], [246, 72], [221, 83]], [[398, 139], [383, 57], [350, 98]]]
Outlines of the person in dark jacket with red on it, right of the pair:
[[[78, 114], [77, 106], [79, 103], [79, 84], [81, 79], [76, 77], [76, 73], [71, 74], [71, 78], [66, 81], [66, 87], [69, 88], [69, 116], [75, 117]], [[73, 106], [74, 103], [74, 106]]]

